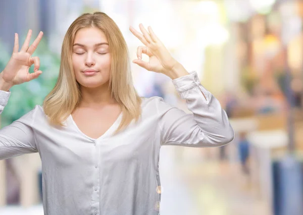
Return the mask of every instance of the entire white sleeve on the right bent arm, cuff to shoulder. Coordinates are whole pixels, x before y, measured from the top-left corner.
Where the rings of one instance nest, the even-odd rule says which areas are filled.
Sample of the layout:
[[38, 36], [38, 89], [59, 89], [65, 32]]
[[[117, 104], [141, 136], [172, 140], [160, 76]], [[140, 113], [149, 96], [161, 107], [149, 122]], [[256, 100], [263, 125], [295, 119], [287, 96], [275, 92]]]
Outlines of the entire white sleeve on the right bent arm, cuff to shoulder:
[[192, 114], [171, 106], [160, 99], [161, 145], [189, 147], [222, 146], [234, 138], [226, 112], [219, 100], [201, 84], [196, 72], [172, 80], [181, 98], [186, 99]]

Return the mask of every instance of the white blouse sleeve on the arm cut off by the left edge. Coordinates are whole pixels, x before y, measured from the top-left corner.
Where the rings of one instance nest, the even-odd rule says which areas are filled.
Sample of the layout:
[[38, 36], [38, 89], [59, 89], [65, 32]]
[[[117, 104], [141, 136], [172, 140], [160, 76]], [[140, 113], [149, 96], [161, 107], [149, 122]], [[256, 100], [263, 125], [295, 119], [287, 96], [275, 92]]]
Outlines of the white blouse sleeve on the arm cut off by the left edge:
[[[0, 90], [0, 114], [8, 103], [11, 92]], [[37, 152], [32, 123], [35, 110], [28, 112], [12, 124], [0, 129], [0, 160]]]

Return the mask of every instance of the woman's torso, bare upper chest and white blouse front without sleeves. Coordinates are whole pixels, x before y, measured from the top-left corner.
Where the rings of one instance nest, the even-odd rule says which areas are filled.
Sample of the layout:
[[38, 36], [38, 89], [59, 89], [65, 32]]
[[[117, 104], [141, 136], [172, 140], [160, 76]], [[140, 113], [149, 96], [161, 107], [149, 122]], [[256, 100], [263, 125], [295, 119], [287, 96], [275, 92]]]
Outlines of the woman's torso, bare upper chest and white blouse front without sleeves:
[[[64, 122], [66, 127], [46, 123], [41, 106], [39, 112], [32, 112], [26, 119], [31, 124], [36, 113], [32, 125], [42, 160], [44, 211], [49, 215], [94, 211], [158, 215], [158, 105], [157, 97], [144, 99], [138, 123], [131, 123], [118, 135], [105, 135], [96, 141], [90, 138], [99, 138], [111, 127], [120, 113], [118, 106], [98, 110], [81, 106], [71, 114], [74, 122], [70, 118]], [[71, 193], [72, 201], [66, 201]]]

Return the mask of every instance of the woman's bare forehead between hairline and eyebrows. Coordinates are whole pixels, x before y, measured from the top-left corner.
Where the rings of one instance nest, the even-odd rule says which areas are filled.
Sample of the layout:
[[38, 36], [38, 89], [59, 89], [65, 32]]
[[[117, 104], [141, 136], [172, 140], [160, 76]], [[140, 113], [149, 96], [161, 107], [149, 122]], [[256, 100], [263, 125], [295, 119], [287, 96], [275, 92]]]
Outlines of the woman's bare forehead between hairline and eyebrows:
[[[77, 31], [74, 43], [81, 43], [86, 46], [94, 45], [96, 43], [107, 42], [105, 33], [98, 28], [82, 28]], [[104, 45], [106, 46], [106, 45]]]

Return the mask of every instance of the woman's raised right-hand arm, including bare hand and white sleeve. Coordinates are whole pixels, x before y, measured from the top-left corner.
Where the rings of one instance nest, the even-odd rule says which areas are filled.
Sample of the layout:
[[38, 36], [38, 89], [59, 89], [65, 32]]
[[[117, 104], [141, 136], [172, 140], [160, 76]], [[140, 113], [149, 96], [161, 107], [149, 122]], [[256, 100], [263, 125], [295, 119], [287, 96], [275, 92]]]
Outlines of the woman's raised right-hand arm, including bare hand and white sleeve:
[[[162, 145], [203, 147], [231, 142], [234, 131], [220, 102], [200, 84], [196, 73], [189, 74], [170, 55], [150, 26], [148, 31], [142, 24], [139, 28], [141, 33], [130, 27], [130, 31], [145, 45], [138, 47], [138, 59], [133, 63], [173, 79], [176, 90], [186, 99], [187, 107], [193, 113], [185, 114], [162, 99], [158, 102]], [[142, 61], [142, 53], [149, 57], [149, 62]]]

